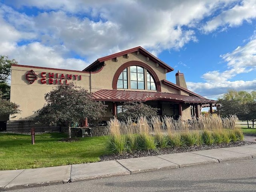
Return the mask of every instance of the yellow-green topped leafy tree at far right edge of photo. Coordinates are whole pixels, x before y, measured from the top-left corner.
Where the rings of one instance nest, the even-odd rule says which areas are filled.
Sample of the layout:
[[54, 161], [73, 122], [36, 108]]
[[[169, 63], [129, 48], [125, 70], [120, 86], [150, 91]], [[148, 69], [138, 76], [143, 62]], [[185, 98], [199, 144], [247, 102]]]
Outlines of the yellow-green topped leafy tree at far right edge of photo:
[[[240, 120], [248, 120], [253, 122], [256, 120], [256, 91], [235, 91], [229, 90], [221, 98], [218, 98], [218, 112], [221, 116], [230, 114], [238, 116]], [[248, 124], [249, 127], [249, 124]]]

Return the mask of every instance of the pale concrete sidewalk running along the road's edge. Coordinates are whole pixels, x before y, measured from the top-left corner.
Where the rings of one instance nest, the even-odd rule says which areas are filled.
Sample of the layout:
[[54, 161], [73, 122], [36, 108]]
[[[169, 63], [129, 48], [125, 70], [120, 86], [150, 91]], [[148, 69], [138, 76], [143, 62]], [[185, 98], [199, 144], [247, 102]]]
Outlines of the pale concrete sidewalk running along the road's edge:
[[0, 171], [0, 191], [256, 157], [256, 144], [49, 168]]

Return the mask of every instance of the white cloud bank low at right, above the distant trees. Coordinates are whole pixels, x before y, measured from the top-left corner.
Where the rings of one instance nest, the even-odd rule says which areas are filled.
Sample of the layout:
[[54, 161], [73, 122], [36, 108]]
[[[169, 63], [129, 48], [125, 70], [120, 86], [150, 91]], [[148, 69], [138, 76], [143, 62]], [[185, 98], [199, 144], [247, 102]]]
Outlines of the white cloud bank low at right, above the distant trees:
[[[255, 38], [255, 36], [252, 36]], [[249, 73], [256, 70], [256, 39], [244, 46], [238, 46], [234, 51], [221, 55], [220, 57], [227, 64], [229, 70], [223, 72], [210, 71], [202, 75], [205, 83], [187, 82], [188, 88], [202, 96], [211, 96], [216, 99], [229, 89], [234, 90], [256, 90], [256, 80], [232, 81], [237, 74]]]

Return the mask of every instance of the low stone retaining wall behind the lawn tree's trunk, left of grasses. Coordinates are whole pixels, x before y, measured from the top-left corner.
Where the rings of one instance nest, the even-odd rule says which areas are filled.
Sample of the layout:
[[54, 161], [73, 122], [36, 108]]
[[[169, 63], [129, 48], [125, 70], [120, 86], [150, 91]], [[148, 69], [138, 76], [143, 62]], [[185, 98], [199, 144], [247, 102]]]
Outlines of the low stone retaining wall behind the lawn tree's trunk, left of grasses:
[[[84, 129], [88, 136], [90, 136], [90, 133], [92, 136], [102, 136], [102, 135], [108, 135], [108, 127], [107, 126], [98, 126], [98, 127], [72, 127], [71, 128], [71, 137], [82, 137], [82, 129]], [[68, 127], [61, 127], [61, 132], [68, 134]]]

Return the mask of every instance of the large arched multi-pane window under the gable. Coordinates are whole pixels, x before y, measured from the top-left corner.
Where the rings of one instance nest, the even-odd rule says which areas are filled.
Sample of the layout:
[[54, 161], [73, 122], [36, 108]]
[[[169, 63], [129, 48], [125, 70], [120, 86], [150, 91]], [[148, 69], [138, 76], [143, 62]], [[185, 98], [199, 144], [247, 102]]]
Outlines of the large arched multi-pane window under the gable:
[[156, 84], [148, 70], [134, 65], [125, 68], [120, 73], [117, 81], [117, 88], [156, 90]]

